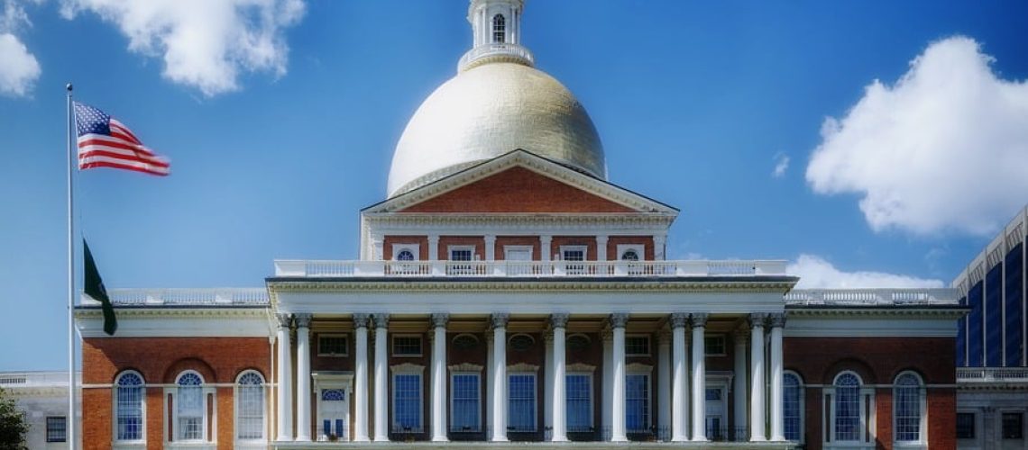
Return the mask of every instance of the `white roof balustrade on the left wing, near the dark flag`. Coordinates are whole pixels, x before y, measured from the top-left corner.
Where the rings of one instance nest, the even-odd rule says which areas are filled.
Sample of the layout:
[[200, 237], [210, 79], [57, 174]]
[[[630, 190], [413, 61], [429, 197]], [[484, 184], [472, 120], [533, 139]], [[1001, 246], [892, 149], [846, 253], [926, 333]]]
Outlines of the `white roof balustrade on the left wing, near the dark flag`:
[[[264, 288], [111, 289], [111, 302], [121, 305], [261, 305], [268, 304]], [[93, 300], [83, 296], [83, 303]]]

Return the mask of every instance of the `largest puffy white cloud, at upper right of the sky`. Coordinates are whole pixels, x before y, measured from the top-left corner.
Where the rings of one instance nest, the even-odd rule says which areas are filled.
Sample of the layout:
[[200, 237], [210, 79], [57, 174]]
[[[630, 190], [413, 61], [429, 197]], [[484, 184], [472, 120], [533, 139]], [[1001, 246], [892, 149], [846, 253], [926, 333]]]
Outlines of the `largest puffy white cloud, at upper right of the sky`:
[[894, 84], [828, 118], [807, 166], [818, 194], [861, 195], [875, 231], [990, 235], [1028, 201], [1028, 82], [977, 42], [930, 44]]

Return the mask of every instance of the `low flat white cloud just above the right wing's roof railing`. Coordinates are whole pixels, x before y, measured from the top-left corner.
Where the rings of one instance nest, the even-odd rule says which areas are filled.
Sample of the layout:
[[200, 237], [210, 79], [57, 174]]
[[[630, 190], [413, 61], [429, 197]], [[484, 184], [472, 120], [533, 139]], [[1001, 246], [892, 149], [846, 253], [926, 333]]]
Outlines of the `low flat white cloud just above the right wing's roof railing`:
[[883, 272], [842, 272], [824, 258], [806, 253], [790, 262], [785, 273], [800, 277], [800, 282], [796, 285], [799, 289], [943, 287], [940, 280]]

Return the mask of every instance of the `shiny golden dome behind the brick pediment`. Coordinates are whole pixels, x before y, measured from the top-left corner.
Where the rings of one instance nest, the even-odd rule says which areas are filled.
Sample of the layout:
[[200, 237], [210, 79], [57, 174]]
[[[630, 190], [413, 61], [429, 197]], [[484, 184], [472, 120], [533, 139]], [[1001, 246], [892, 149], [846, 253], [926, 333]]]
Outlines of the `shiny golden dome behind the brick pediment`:
[[389, 196], [516, 149], [607, 178], [596, 127], [571, 91], [531, 67], [490, 62], [458, 73], [417, 109], [393, 155]]

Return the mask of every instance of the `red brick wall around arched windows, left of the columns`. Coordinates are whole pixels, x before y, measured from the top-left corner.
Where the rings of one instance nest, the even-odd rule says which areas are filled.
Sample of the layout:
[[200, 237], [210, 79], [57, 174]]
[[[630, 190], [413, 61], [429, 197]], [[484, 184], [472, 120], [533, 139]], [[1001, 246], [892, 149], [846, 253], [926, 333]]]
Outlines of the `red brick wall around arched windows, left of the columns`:
[[[172, 383], [182, 370], [196, 370], [209, 383], [234, 383], [244, 370], [254, 369], [270, 381], [269, 347], [262, 337], [86, 338], [82, 342], [82, 382], [109, 384], [123, 370], [136, 370], [146, 383]], [[217, 388], [218, 448], [232, 448], [234, 434], [231, 387]], [[269, 399], [270, 400], [270, 399]], [[82, 442], [87, 449], [110, 448], [111, 390], [85, 388], [82, 394]], [[146, 390], [148, 449], [163, 446], [163, 388]]]

